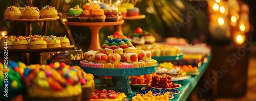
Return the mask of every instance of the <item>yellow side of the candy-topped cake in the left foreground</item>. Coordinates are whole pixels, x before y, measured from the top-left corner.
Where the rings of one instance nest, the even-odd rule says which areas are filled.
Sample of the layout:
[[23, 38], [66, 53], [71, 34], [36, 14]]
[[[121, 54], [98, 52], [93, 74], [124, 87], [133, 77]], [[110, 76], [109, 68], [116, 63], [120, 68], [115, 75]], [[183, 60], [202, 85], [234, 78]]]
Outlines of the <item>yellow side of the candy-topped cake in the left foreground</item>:
[[70, 97], [79, 95], [82, 92], [80, 85], [68, 86], [61, 91], [52, 91], [50, 89], [41, 88], [39, 86], [28, 90], [31, 91], [29, 96], [33, 97]]

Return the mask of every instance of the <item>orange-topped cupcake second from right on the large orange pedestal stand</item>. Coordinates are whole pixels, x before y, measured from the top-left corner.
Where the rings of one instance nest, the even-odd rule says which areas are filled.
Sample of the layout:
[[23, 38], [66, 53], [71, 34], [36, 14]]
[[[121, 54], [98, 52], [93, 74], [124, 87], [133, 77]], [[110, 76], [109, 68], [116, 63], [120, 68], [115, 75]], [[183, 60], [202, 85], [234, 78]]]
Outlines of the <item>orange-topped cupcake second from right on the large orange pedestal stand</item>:
[[90, 19], [92, 22], [105, 22], [106, 16], [103, 9], [93, 9]]

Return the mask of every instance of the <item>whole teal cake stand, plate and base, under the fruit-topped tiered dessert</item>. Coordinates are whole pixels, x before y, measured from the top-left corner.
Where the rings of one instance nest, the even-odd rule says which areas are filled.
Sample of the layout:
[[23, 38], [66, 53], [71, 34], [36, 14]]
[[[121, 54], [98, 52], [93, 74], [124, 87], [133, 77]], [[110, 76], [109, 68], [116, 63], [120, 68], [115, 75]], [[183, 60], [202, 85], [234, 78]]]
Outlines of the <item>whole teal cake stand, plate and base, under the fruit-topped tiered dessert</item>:
[[86, 73], [91, 73], [95, 76], [112, 76], [111, 89], [116, 92], [123, 92], [125, 95], [131, 95], [132, 89], [129, 83], [128, 76], [147, 75], [156, 72], [156, 66], [147, 66], [143, 68], [128, 68], [128, 69], [105, 69], [105, 68], [90, 68], [81, 66]]

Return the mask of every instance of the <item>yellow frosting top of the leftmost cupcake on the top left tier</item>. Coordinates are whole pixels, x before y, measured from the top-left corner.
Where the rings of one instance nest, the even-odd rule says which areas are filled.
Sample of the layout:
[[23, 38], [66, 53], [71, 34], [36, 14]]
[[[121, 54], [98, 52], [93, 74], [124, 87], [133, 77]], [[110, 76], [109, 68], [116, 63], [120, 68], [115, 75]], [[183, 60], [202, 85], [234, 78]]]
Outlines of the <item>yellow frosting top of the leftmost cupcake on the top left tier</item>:
[[8, 16], [21, 16], [22, 12], [20, 12], [17, 7], [10, 6], [10, 7], [8, 7], [5, 10], [4, 15], [8, 15]]

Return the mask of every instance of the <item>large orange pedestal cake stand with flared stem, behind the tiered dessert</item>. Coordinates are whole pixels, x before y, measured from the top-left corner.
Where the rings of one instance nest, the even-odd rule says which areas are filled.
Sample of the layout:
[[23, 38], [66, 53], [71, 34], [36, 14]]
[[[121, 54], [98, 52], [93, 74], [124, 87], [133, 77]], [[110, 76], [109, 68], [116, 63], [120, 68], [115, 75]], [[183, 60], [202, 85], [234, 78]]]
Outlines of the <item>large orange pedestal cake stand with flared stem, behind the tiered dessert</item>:
[[117, 22], [65, 22], [68, 25], [73, 26], [87, 26], [91, 30], [91, 43], [88, 50], [95, 50], [97, 51], [100, 49], [99, 43], [99, 30], [103, 26], [110, 26], [110, 25], [122, 25], [124, 20], [117, 21]]

